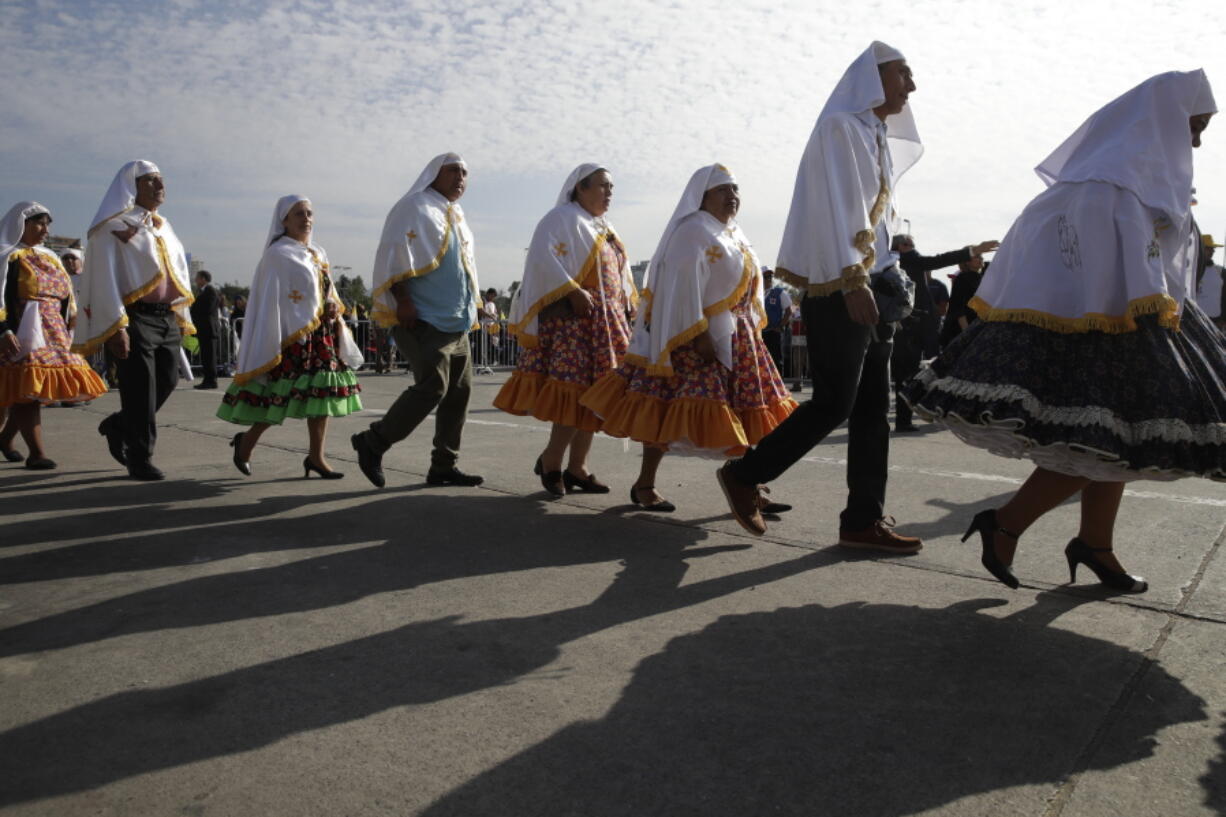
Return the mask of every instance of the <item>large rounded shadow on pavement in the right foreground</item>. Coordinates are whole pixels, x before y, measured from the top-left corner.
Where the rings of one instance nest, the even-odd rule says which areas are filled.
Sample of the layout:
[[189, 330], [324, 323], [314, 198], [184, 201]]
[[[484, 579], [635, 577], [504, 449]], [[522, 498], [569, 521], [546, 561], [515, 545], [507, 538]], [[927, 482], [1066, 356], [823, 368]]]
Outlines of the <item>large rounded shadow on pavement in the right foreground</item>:
[[[1040, 597], [1003, 619], [977, 611], [991, 601], [726, 616], [642, 661], [606, 718], [560, 730], [423, 813], [901, 817], [1054, 786], [1145, 660], [1047, 627], [1075, 604]], [[1171, 697], [1117, 725], [1091, 768], [1146, 758], [1160, 730], [1205, 719], [1197, 696], [1157, 665], [1148, 672]], [[1018, 808], [1011, 797], [978, 813]]]

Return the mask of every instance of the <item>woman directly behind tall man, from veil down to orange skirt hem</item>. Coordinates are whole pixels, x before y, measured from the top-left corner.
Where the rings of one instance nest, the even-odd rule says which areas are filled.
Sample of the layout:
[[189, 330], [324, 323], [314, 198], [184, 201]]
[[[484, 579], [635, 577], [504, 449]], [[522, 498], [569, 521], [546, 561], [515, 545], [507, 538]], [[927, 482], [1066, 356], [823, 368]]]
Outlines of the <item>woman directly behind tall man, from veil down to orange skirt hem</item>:
[[722, 164], [690, 177], [651, 258], [625, 366], [582, 400], [606, 433], [725, 459], [796, 408], [761, 339], [761, 269], [739, 209]]

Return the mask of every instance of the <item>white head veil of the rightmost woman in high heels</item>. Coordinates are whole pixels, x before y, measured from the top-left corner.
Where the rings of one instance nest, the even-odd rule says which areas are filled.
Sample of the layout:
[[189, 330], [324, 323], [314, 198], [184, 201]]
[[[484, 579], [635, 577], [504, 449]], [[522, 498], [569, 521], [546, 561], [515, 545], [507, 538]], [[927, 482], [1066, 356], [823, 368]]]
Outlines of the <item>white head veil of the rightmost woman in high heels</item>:
[[1159, 74], [1100, 108], [1035, 172], [1048, 185], [1110, 182], [1182, 224], [1192, 200], [1188, 118], [1216, 110], [1203, 70]]

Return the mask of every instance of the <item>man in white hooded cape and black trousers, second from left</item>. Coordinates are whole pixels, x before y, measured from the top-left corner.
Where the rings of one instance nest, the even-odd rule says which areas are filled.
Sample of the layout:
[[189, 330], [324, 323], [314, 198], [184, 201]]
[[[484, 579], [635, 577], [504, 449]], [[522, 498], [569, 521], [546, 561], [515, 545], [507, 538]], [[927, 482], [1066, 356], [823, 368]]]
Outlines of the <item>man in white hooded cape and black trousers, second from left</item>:
[[119, 169], [89, 222], [82, 308], [72, 350], [105, 345], [119, 362], [120, 410], [98, 426], [134, 480], [162, 480], [153, 465], [157, 411], [179, 382], [179, 345], [194, 335], [191, 278], [183, 244], [158, 213], [166, 201], [152, 162]]

